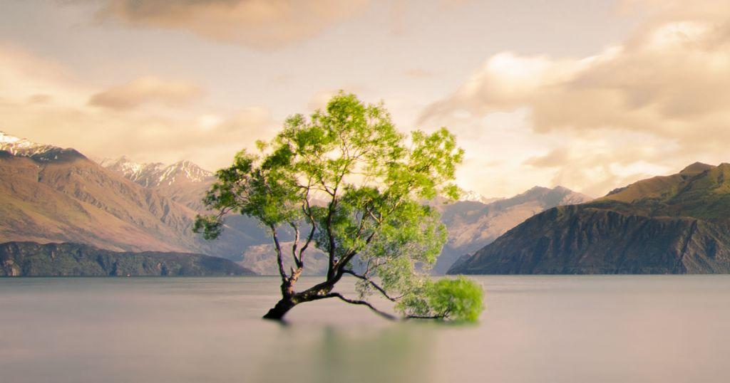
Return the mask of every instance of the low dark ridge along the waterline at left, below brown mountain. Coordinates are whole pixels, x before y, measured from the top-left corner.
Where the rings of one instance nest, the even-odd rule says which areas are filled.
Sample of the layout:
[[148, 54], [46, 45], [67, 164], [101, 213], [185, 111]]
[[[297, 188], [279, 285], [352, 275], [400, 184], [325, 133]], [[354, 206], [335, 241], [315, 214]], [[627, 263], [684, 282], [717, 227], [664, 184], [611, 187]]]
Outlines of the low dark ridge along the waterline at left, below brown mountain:
[[253, 275], [231, 260], [181, 252], [112, 252], [85, 244], [0, 244], [0, 276]]

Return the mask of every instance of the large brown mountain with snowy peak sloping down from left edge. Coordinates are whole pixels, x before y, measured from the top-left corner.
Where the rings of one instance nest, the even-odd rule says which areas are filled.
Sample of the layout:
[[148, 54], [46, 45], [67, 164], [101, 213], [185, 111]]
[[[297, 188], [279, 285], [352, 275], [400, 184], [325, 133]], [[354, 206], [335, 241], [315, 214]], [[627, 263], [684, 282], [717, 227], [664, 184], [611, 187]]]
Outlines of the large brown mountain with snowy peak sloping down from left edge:
[[7, 134], [2, 138], [0, 241], [67, 241], [234, 259], [256, 243], [236, 228], [226, 230], [221, 241], [204, 241], [191, 231], [196, 210], [158, 190], [104, 169], [76, 150]]

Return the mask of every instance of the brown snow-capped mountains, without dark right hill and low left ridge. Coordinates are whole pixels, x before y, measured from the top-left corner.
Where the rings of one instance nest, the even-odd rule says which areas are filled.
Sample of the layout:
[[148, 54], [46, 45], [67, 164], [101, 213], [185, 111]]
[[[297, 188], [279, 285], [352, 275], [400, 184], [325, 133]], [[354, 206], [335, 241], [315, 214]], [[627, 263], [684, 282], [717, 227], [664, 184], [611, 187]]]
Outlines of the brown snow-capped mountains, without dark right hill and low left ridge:
[[[126, 157], [91, 160], [73, 149], [37, 144], [0, 132], [0, 241], [74, 242], [123, 252], [194, 252], [237, 260], [258, 274], [276, 274], [269, 237], [240, 215], [228, 217], [217, 241], [191, 232], [201, 198], [215, 177], [195, 163], [137, 163]], [[534, 187], [512, 198], [464, 193], [437, 198], [449, 232], [434, 274], [534, 214], [591, 198], [564, 187]], [[290, 240], [286, 235], [283, 241]], [[326, 260], [312, 254], [307, 274]]]

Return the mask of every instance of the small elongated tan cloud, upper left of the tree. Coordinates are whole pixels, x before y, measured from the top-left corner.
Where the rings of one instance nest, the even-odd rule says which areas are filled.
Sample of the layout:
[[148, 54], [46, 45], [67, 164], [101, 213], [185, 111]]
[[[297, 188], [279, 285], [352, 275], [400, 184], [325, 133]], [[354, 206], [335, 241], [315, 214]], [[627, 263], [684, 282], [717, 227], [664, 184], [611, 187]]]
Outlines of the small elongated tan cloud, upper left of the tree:
[[117, 110], [133, 109], [150, 103], [175, 107], [188, 104], [202, 93], [201, 88], [191, 82], [147, 76], [95, 93], [89, 98], [88, 104]]

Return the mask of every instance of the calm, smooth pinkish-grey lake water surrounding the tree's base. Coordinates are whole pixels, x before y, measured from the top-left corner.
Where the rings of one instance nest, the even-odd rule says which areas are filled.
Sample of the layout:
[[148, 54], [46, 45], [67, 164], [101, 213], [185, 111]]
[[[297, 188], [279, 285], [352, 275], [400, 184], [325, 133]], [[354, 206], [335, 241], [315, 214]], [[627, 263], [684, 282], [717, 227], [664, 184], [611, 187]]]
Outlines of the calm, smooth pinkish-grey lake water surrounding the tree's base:
[[320, 301], [283, 326], [273, 278], [0, 279], [0, 381], [727, 382], [730, 276], [477, 280], [478, 325]]

